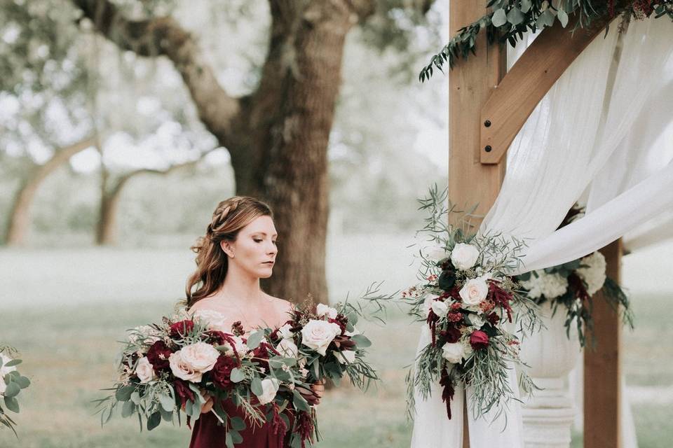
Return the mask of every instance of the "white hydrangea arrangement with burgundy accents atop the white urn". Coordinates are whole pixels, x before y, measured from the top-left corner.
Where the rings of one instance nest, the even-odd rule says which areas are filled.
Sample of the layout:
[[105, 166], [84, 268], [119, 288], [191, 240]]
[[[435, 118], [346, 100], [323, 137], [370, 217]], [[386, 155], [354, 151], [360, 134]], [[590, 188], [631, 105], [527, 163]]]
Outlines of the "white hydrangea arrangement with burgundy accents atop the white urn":
[[536, 303], [550, 302], [553, 313], [558, 307], [563, 307], [566, 311], [566, 333], [570, 334], [574, 322], [580, 344], [585, 346], [584, 328], [589, 332], [593, 328], [592, 297], [599, 291], [615, 309], [621, 307], [624, 323], [633, 328], [629, 298], [616, 281], [606, 276], [605, 269], [605, 257], [600, 252], [594, 252], [579, 260], [526, 272], [517, 279]]

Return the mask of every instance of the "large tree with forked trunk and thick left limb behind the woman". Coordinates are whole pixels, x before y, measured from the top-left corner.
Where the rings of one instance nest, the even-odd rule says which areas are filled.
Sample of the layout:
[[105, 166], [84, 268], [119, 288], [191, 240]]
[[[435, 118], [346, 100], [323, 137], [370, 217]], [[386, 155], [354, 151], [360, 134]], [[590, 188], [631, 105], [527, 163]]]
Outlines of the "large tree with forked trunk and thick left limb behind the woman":
[[[283, 250], [269, 292], [326, 300], [327, 144], [346, 35], [360, 24], [384, 36], [372, 43], [403, 46], [402, 31], [422, 20], [432, 0], [270, 0], [266, 59], [257, 87], [241, 96], [222, 87], [193, 34], [151, 8], [165, 10], [170, 2], [73, 2], [120, 48], [172, 61], [200, 120], [231, 155], [237, 192], [274, 207]], [[138, 4], [149, 5], [149, 13]], [[121, 9], [129, 5], [135, 8]]]

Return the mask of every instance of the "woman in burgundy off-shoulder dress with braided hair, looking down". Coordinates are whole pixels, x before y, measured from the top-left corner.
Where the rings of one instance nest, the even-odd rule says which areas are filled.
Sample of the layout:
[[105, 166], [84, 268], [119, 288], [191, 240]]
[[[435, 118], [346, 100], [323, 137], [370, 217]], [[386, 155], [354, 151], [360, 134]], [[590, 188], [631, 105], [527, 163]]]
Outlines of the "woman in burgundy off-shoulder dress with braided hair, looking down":
[[[217, 311], [229, 326], [240, 321], [249, 332], [259, 326], [276, 328], [287, 321], [290, 302], [264, 293], [259, 279], [273, 272], [278, 246], [273, 214], [268, 205], [252, 197], [236, 196], [217, 205], [205, 237], [192, 247], [196, 252], [196, 272], [186, 285], [189, 311]], [[313, 386], [320, 399], [323, 387]], [[244, 416], [233, 402], [224, 403], [229, 415]], [[225, 429], [210, 412], [208, 399], [194, 424], [190, 448], [224, 448]], [[254, 428], [248, 424], [240, 435], [246, 448], [281, 448], [289, 434], [276, 434], [270, 424]]]

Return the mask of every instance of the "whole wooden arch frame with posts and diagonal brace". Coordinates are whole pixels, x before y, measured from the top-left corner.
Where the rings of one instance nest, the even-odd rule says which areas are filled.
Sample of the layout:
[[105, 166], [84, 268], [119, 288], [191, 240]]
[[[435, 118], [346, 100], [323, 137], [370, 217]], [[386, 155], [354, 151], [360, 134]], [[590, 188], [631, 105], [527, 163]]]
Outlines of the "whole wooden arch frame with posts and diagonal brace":
[[[450, 2], [449, 32], [454, 36], [486, 13], [482, 1]], [[484, 215], [494, 204], [505, 175], [503, 157], [533, 109], [570, 64], [605, 28], [591, 29], [573, 23], [545, 29], [506, 71], [506, 50], [487, 45], [485, 33], [477, 38], [477, 53], [449, 72], [449, 197], [463, 204], [479, 204]], [[463, 205], [459, 204], [459, 205]], [[620, 280], [620, 241], [601, 250], [608, 275]], [[596, 351], [584, 359], [584, 446], [620, 447], [620, 319], [604, 300], [594, 300]], [[463, 411], [465, 412], [465, 410]], [[468, 427], [463, 448], [469, 447]]]

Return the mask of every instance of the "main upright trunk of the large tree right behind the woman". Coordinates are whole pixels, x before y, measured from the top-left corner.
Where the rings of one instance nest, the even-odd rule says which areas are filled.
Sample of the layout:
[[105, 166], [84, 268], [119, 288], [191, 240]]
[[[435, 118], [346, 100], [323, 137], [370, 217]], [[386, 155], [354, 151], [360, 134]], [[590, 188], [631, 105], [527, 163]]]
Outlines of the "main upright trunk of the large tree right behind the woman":
[[[237, 186], [273, 207], [281, 242], [268, 292], [294, 301], [311, 293], [326, 302], [327, 146], [353, 11], [345, 3], [313, 2], [294, 15], [272, 4], [271, 13], [271, 43], [252, 98], [254, 138], [247, 151], [259, 157], [257, 173], [247, 179], [259, 183], [249, 188], [249, 180], [237, 179]], [[237, 173], [243, 171], [237, 165], [245, 160], [232, 162]]]

